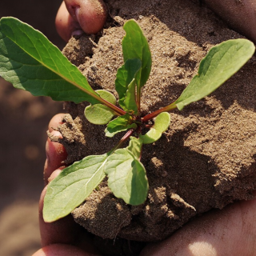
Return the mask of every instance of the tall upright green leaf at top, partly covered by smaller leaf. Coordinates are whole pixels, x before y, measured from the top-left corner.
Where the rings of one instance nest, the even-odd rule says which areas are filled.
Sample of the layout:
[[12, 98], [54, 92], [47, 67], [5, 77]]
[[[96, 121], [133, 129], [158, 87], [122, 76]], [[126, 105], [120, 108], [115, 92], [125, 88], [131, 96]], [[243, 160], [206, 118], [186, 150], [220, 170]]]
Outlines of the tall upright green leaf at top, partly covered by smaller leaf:
[[123, 29], [126, 30], [126, 35], [122, 40], [124, 61], [126, 62], [126, 60], [130, 58], [138, 58], [142, 62], [142, 68], [136, 75], [138, 92], [140, 92], [142, 86], [146, 84], [150, 76], [152, 65], [150, 46], [148, 45], [142, 29], [134, 20], [126, 22]]

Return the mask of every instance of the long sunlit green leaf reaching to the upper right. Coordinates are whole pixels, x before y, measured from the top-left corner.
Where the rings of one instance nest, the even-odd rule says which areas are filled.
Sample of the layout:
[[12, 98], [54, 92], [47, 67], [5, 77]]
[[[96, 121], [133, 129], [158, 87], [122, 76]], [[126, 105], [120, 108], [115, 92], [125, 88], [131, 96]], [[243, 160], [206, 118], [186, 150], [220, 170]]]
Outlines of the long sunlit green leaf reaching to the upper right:
[[198, 74], [171, 105], [178, 110], [206, 97], [235, 74], [254, 54], [254, 43], [246, 39], [222, 42], [210, 49], [200, 63]]

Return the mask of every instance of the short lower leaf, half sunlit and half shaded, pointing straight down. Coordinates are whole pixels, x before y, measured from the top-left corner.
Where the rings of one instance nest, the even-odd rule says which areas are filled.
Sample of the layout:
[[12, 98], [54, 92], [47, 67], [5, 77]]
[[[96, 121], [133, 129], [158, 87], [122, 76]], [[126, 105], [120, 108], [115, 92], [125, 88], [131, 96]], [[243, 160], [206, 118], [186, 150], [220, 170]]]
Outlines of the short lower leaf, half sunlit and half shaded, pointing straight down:
[[148, 181], [146, 170], [138, 160], [138, 153], [133, 154], [129, 148], [135, 146], [141, 150], [142, 141], [132, 138], [130, 146], [126, 149], [116, 150], [110, 155], [106, 163], [105, 172], [108, 175], [108, 186], [117, 198], [122, 198], [126, 203], [137, 206], [146, 201], [148, 194]]

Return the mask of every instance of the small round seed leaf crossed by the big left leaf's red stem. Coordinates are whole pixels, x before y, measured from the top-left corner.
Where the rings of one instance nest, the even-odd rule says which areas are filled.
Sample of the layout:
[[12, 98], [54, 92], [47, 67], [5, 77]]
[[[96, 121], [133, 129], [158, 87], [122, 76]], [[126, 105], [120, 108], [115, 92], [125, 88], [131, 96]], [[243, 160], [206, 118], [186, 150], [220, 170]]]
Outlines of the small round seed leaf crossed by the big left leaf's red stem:
[[[116, 98], [113, 94], [106, 90], [96, 90], [98, 95], [105, 99], [107, 102], [111, 104], [116, 104]], [[109, 107], [102, 104], [94, 104], [90, 106], [86, 106], [85, 116], [86, 119], [94, 123], [94, 125], [106, 125], [110, 120], [114, 117], [115, 112], [111, 110]]]

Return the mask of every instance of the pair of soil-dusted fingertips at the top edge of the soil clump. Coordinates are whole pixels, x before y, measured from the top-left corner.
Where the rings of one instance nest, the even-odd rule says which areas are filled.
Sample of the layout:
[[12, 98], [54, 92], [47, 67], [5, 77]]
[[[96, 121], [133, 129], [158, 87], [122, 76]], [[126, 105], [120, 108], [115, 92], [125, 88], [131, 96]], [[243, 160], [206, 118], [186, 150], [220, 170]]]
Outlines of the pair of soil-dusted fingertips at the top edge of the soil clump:
[[67, 42], [71, 35], [96, 34], [106, 22], [107, 9], [102, 0], [65, 0], [56, 16], [58, 34]]

